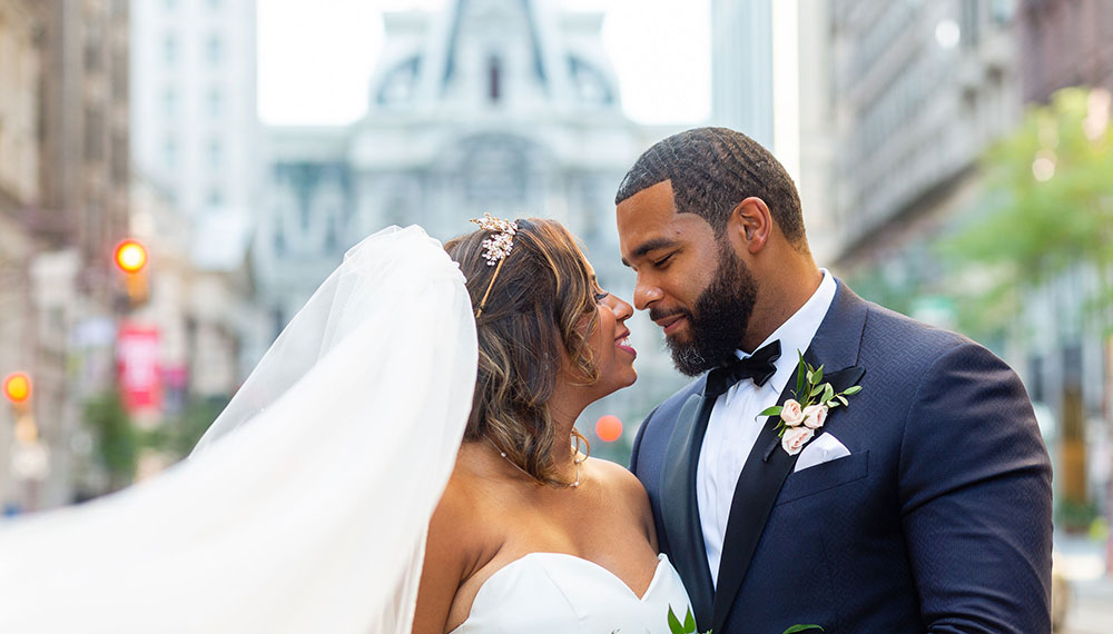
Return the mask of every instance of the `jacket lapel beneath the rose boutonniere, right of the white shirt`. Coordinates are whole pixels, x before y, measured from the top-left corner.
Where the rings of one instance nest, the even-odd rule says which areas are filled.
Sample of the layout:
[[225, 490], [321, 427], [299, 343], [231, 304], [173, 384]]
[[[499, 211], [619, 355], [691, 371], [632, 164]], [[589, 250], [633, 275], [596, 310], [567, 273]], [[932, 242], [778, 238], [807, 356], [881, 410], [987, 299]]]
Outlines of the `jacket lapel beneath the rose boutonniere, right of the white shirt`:
[[[830, 383], [836, 392], [855, 385], [865, 374], [864, 368], [853, 365], [857, 361], [865, 317], [866, 304], [839, 284], [831, 308], [804, 354], [804, 359], [812, 367], [823, 361], [826, 368], [844, 368], [825, 370], [824, 382]], [[784, 404], [795, 388], [794, 374], [777, 403]], [[839, 409], [831, 412], [831, 416], [839, 414]], [[789, 456], [780, 448], [776, 427], [777, 417], [766, 419], [735, 486], [712, 603], [711, 628], [715, 632], [725, 631], [727, 617], [746, 578], [780, 487], [799, 457], [799, 454]]]

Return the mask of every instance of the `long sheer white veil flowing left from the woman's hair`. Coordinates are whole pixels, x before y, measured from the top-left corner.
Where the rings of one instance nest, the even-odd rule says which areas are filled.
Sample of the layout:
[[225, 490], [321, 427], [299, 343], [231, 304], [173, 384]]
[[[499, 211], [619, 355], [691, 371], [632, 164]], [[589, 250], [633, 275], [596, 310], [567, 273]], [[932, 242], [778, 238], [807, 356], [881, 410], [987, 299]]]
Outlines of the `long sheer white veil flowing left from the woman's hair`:
[[440, 242], [366, 238], [189, 459], [0, 523], [0, 632], [410, 632], [476, 354]]

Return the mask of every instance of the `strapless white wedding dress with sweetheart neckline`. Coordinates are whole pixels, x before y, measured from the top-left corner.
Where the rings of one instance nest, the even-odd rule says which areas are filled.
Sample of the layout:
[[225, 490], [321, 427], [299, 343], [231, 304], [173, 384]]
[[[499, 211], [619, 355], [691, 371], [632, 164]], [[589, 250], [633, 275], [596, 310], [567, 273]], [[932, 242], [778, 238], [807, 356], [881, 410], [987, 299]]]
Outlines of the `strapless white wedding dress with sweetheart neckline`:
[[530, 553], [487, 578], [452, 634], [669, 634], [670, 608], [682, 622], [689, 602], [664, 555], [639, 597], [594, 562]]

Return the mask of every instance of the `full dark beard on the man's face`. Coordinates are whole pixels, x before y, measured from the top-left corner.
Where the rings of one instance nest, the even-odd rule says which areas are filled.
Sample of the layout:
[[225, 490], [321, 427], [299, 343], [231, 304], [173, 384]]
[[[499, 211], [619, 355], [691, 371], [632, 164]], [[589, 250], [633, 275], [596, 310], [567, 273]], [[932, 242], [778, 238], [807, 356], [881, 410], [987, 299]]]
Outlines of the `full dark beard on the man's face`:
[[[664, 338], [677, 369], [688, 376], [698, 376], [735, 359], [735, 350], [746, 335], [756, 300], [754, 274], [723, 240], [711, 284], [696, 299], [692, 310], [682, 310], [688, 319], [688, 341]], [[656, 319], [652, 311], [650, 317]]]

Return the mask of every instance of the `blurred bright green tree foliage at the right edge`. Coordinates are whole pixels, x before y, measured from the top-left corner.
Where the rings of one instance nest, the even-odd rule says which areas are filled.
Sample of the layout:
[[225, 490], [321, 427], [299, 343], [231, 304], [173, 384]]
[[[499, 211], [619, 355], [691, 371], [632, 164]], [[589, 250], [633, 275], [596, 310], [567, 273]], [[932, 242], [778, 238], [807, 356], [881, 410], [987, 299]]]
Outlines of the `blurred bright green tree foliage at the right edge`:
[[955, 269], [975, 265], [983, 285], [965, 286], [965, 306], [983, 327], [1012, 320], [1025, 289], [1087, 269], [1099, 290], [1092, 309], [1113, 307], [1113, 127], [1110, 95], [1068, 88], [1031, 109], [983, 157], [978, 214], [943, 241]]

